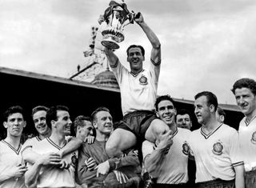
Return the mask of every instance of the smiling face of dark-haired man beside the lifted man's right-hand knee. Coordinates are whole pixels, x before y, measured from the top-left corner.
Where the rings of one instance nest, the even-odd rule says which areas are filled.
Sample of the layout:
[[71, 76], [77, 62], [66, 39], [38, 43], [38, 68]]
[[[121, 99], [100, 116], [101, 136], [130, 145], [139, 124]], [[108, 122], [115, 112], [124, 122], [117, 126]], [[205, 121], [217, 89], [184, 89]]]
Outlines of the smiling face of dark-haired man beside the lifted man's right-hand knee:
[[158, 103], [158, 118], [162, 119], [168, 126], [174, 124], [175, 122], [176, 110], [174, 108], [173, 102], [169, 100], [164, 100]]

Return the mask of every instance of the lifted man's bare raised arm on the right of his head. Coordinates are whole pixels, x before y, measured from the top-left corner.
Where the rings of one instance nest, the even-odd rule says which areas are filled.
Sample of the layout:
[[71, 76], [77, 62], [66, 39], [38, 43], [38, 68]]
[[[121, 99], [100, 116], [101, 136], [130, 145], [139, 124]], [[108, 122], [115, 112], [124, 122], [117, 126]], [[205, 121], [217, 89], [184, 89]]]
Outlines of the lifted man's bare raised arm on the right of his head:
[[152, 45], [151, 50], [151, 60], [158, 64], [161, 62], [161, 44], [156, 34], [154, 34], [154, 31], [150, 29], [150, 27], [146, 24], [144, 21], [144, 18], [140, 12], [135, 14], [135, 22], [138, 23], [139, 26], [142, 27], [142, 30], [146, 34], [146, 37], [149, 38], [150, 43]]

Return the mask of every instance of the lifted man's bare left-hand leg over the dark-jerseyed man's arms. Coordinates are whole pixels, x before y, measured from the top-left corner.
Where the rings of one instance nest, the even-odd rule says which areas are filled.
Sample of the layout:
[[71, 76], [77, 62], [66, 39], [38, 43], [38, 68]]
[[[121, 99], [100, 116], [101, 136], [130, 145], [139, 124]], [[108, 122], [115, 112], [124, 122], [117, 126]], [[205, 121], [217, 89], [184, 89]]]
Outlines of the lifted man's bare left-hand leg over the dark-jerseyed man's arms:
[[116, 129], [106, 142], [106, 154], [110, 158], [119, 157], [123, 150], [135, 146], [136, 136], [129, 130]]

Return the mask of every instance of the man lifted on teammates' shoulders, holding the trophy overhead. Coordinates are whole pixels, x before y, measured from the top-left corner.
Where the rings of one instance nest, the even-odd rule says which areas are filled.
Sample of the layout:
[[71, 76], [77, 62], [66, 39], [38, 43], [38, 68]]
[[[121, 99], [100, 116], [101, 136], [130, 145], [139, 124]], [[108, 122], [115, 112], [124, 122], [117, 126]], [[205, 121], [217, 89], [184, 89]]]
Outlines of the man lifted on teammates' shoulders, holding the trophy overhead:
[[[114, 6], [111, 6], [111, 3]], [[120, 5], [122, 6], [121, 8]], [[106, 18], [106, 12], [109, 13], [110, 10], [113, 10], [113, 14]], [[115, 10], [120, 10], [120, 12], [114, 13]], [[125, 19], [123, 19], [122, 16], [125, 15], [123, 14], [124, 12], [127, 13], [128, 10], [126, 10], [126, 4], [118, 4], [111, 1], [109, 9], [105, 11], [104, 21], [106, 21], [108, 25], [110, 25], [110, 21], [113, 22], [113, 18], [118, 18], [119, 21], [123, 21]], [[122, 66], [122, 63], [119, 62], [118, 57], [112, 50], [118, 48], [116, 45], [113, 45], [112, 39], [116, 38], [116, 36], [122, 36], [122, 30], [118, 31], [116, 28], [111, 29], [109, 33], [114, 34], [114, 36], [109, 35], [108, 38], [111, 39], [106, 39], [106, 41], [104, 41], [106, 38], [106, 36], [104, 36], [104, 30], [102, 31], [102, 45], [106, 46], [106, 57], [110, 62], [110, 67], [114, 71], [114, 75], [120, 86], [122, 113], [124, 115], [123, 122], [114, 130], [108, 142], [106, 142], [106, 152], [110, 158], [118, 157], [122, 154], [122, 150], [138, 146], [137, 143], [141, 144], [145, 139], [150, 142], [155, 142], [159, 140], [158, 138], [162, 134], [170, 130], [164, 122], [154, 115], [154, 102], [157, 96], [161, 64], [161, 44], [156, 34], [154, 34], [153, 30], [146, 24], [141, 13], [133, 14], [131, 18], [128, 11], [126, 19], [129, 19], [130, 22], [137, 22], [152, 45], [149, 62], [150, 68], [149, 70], [143, 69], [142, 63], [145, 60], [145, 50], [143, 47], [132, 45], [126, 51], [127, 61], [130, 62], [130, 71], [127, 70]], [[118, 26], [120, 25], [124, 25], [123, 22]], [[118, 42], [118, 40], [116, 40], [116, 42]]]

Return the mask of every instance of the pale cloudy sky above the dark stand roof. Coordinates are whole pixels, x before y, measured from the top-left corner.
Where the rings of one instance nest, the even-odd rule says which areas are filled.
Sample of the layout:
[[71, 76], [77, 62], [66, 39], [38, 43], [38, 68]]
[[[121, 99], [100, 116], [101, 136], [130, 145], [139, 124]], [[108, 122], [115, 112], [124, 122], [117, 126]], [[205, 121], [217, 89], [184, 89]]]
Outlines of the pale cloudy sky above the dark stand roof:
[[[194, 100], [210, 90], [219, 103], [235, 104], [230, 91], [239, 78], [256, 79], [256, 1], [126, 0], [142, 12], [162, 45], [158, 94]], [[0, 66], [69, 78], [85, 66], [91, 27], [98, 26], [106, 0], [1, 0]], [[115, 53], [140, 44], [150, 60], [150, 42], [138, 24], [124, 30]]]

